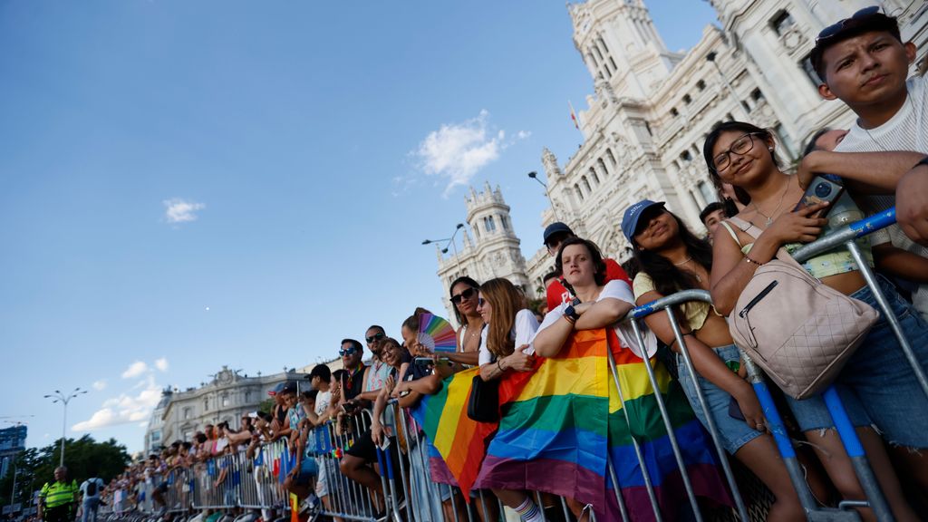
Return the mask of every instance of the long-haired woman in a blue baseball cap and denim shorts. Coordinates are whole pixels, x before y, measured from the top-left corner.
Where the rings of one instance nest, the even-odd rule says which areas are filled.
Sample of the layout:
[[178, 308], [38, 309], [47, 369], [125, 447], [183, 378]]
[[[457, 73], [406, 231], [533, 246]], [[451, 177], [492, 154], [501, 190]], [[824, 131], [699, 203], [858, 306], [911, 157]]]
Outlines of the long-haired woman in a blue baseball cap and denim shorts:
[[[690, 232], [677, 215], [664, 208], [664, 202], [644, 200], [628, 207], [622, 231], [634, 248], [640, 268], [632, 284], [638, 306], [681, 290], [709, 289], [712, 245]], [[658, 339], [677, 353], [677, 375], [693, 411], [708, 429], [707, 413], [696, 397], [696, 386], [701, 386], [722, 446], [747, 465], [776, 498], [767, 520], [802, 519], [803, 507], [786, 466], [773, 437], [765, 433], [766, 419], [754, 388], [738, 373], [741, 354], [731, 340], [725, 318], [702, 301], [685, 303], [675, 312], [682, 317], [680, 330], [698, 375], [690, 375], [679, 355], [680, 346], [667, 312], [651, 314], [645, 322]], [[732, 400], [736, 401], [741, 419], [728, 413]], [[823, 491], [816, 493], [819, 499], [823, 498]]]

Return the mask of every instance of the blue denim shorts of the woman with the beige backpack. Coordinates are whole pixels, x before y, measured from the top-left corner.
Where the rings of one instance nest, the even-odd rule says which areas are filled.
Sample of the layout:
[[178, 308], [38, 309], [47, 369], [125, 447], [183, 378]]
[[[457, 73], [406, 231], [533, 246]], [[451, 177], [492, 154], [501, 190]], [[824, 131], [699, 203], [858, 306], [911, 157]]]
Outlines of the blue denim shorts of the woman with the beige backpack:
[[[928, 324], [888, 281], [882, 277], [878, 277], [878, 281], [922, 370], [928, 372]], [[902, 353], [870, 287], [858, 290], [851, 297], [880, 313], [880, 319], [835, 381], [851, 423], [857, 426], [874, 424], [883, 438], [894, 445], [928, 448], [928, 398], [915, 379], [909, 360]], [[821, 398], [788, 400], [803, 431], [833, 425]], [[870, 423], [863, 421], [863, 415]]]

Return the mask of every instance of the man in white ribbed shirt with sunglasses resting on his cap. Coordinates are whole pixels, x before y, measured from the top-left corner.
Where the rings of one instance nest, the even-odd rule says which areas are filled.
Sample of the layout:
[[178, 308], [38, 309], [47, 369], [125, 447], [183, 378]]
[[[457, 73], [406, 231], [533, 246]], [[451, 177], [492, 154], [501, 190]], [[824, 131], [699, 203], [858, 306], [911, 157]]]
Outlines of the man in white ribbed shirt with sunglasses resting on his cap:
[[[928, 247], [928, 166], [917, 164], [928, 154], [928, 85], [923, 76], [908, 78], [916, 54], [912, 42], [902, 41], [896, 19], [872, 6], [818, 33], [809, 59], [821, 97], [840, 99], [857, 114], [836, 150], [872, 154], [819, 154], [816, 160], [838, 163], [821, 165], [819, 172], [843, 176], [857, 192], [874, 194], [865, 198], [869, 212], [895, 204], [901, 230], [889, 228], [890, 238], [925, 255], [911, 244]], [[898, 150], [912, 152], [893, 152]], [[801, 168], [800, 174], [804, 170], [812, 169]]]

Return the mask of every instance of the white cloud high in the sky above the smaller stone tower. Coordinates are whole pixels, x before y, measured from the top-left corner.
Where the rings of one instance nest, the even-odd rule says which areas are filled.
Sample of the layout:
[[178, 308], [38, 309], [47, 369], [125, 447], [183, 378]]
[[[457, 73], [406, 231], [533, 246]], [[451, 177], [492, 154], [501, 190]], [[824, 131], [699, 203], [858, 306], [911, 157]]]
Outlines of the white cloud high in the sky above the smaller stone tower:
[[[496, 161], [499, 153], [509, 147], [506, 131], [494, 132], [487, 123], [489, 116], [490, 113], [483, 110], [476, 118], [462, 124], [442, 124], [412, 152], [425, 174], [447, 179], [445, 197], [458, 185], [470, 183], [477, 172]], [[525, 139], [530, 135], [526, 131], [519, 131], [516, 139]]]

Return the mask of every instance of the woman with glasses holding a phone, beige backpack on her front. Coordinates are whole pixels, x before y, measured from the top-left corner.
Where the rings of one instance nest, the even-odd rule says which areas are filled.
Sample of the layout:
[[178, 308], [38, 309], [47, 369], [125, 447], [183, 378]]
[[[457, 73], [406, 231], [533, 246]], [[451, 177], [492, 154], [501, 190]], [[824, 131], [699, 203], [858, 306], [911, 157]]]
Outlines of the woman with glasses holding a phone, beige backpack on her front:
[[[732, 312], [754, 271], [773, 259], [780, 247], [792, 252], [804, 242], [815, 241], [830, 228], [829, 219], [814, 217], [828, 206], [825, 203], [791, 212], [803, 197], [803, 189], [796, 176], [780, 171], [774, 150], [772, 133], [742, 122], [716, 125], [703, 146], [710, 176], [733, 184], [749, 198], [748, 206], [738, 217], [762, 230], [754, 239], [728, 221], [722, 222], [721, 226], [728, 233], [716, 236], [711, 292], [715, 308], [725, 315]], [[853, 210], [853, 202], [841, 204], [851, 205], [847, 212]], [[858, 240], [858, 243], [869, 258], [867, 241]], [[843, 246], [808, 259], [804, 268], [823, 284], [879, 308], [853, 257]], [[910, 303], [896, 294], [888, 281], [881, 278], [880, 286], [912, 348], [925, 364], [928, 362], [928, 325], [917, 317]], [[928, 402], [885, 320], [870, 330], [844, 366], [835, 386], [852, 424], [857, 426], [874, 474], [896, 517], [914, 519], [883, 449], [883, 441], [870, 424], [875, 424], [891, 444], [913, 451], [924, 449], [928, 447]], [[844, 498], [863, 499], [863, 490], [838, 434], [831, 429], [834, 424], [822, 398], [791, 400], [790, 406]], [[910, 459], [921, 457], [916, 451]], [[862, 510], [862, 514], [871, 515], [869, 509]]]

